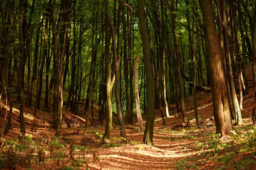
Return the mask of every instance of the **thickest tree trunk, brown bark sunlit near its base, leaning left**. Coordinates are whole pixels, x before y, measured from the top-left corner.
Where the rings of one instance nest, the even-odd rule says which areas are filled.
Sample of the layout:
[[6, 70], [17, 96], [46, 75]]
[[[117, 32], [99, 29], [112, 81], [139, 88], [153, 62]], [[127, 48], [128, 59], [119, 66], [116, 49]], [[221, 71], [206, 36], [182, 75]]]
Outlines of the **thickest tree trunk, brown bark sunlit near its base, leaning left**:
[[209, 61], [216, 133], [225, 136], [225, 134], [230, 133], [230, 131], [233, 130], [233, 126], [225, 82], [221, 45], [215, 26], [215, 14], [212, 0], [199, 0], [199, 2], [205, 26], [204, 38], [207, 59]]

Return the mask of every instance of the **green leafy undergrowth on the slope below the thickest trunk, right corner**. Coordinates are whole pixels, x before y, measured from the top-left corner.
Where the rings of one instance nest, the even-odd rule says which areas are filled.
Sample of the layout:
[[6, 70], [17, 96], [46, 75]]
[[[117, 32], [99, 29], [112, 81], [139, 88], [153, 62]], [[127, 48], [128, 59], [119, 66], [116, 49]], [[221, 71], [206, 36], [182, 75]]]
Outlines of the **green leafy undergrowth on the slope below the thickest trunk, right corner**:
[[[237, 131], [241, 131], [237, 128]], [[256, 129], [250, 127], [246, 133], [231, 131], [230, 135], [220, 138], [220, 134], [209, 134], [197, 140], [194, 155], [176, 162], [178, 170], [186, 169], [235, 169], [248, 170], [256, 166]], [[210, 137], [209, 137], [210, 136]], [[200, 169], [199, 168], [199, 169]]]

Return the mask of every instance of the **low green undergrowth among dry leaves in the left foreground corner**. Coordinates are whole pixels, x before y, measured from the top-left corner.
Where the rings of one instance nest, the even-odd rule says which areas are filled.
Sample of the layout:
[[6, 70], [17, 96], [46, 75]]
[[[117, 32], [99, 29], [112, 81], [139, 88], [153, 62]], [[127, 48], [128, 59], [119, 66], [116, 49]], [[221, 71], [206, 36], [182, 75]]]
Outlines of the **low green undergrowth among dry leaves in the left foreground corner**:
[[35, 164], [45, 169], [53, 166], [62, 170], [87, 169], [84, 158], [76, 158], [76, 151], [86, 150], [64, 138], [45, 137], [34, 140], [32, 135], [26, 139], [0, 140], [0, 169], [16, 169], [17, 166], [35, 167]]

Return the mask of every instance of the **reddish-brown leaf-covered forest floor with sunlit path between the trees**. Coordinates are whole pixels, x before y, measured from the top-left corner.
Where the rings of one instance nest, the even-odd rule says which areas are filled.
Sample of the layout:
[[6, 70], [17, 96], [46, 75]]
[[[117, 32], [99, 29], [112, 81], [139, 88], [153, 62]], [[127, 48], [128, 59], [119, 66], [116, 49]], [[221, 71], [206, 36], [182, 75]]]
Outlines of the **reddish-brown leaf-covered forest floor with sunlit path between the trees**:
[[[185, 101], [186, 114], [190, 120], [189, 127], [176, 128], [182, 124], [182, 116], [181, 113], [176, 113], [175, 105], [169, 105], [171, 117], [166, 119], [165, 126], [160, 111], [157, 110], [154, 122], [154, 147], [141, 144], [143, 131], [139, 130], [136, 119], [133, 126], [125, 124], [128, 142], [120, 143], [119, 125], [115, 115], [112, 138], [108, 143], [102, 142], [105, 127], [98, 125], [97, 116], [93, 125], [88, 122], [90, 126], [83, 139], [85, 117], [75, 116], [65, 109], [63, 114], [76, 124], [70, 128], [62, 124], [61, 137], [56, 138], [53, 137], [55, 130], [51, 128], [52, 112], [38, 110], [37, 117], [34, 118], [33, 107], [25, 108], [26, 137], [18, 140], [20, 125], [16, 103], [12, 128], [0, 140], [0, 169], [255, 169], [256, 130], [251, 119], [255, 95], [251, 63], [246, 73], [249, 93], [243, 96], [243, 125], [234, 126], [235, 131], [219, 138], [215, 134], [215, 122], [212, 118], [212, 94], [200, 92], [197, 94], [197, 101], [201, 126], [197, 127], [195, 123], [192, 96]], [[4, 103], [2, 102], [1, 107], [5, 107]], [[94, 108], [98, 114], [97, 107]], [[2, 120], [5, 114], [6, 111], [3, 109], [0, 113], [0, 127], [3, 127]], [[32, 132], [33, 122], [37, 125], [36, 131]]]

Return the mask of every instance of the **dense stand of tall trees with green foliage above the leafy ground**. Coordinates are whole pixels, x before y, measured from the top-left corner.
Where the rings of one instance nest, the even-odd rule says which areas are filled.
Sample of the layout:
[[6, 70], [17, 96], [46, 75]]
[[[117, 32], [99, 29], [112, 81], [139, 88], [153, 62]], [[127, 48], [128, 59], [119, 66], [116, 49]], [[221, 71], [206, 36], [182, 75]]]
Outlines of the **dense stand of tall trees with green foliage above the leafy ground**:
[[[250, 0], [0, 0], [0, 12], [2, 137], [18, 104], [20, 139], [24, 108], [32, 108], [35, 119], [50, 113], [58, 137], [63, 125], [74, 125], [70, 111], [84, 116], [83, 140], [94, 125], [105, 128], [105, 142], [111, 139], [117, 116], [121, 143], [135, 121], [143, 144], [154, 145], [155, 111], [166, 125], [175, 105], [180, 127], [189, 127], [190, 96], [201, 126], [199, 92], [212, 92], [215, 130], [223, 137], [244, 123], [243, 95], [256, 93]], [[250, 113], [255, 121], [254, 107]]]

